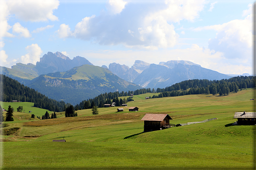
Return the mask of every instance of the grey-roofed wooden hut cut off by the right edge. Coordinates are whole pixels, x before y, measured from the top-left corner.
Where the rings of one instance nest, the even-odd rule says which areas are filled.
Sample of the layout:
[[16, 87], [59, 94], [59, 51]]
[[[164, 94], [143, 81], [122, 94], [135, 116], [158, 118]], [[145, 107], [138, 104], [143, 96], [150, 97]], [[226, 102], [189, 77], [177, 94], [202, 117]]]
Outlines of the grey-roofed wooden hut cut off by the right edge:
[[233, 117], [237, 119], [239, 125], [255, 125], [256, 124], [256, 112], [235, 112]]

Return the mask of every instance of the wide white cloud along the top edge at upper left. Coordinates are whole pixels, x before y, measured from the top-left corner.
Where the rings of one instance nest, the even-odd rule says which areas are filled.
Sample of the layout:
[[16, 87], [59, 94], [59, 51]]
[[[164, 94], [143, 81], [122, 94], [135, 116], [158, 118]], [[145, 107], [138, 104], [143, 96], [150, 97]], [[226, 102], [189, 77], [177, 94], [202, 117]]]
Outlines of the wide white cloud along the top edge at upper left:
[[11, 14], [24, 21], [58, 21], [53, 10], [58, 9], [58, 0], [8, 0]]

